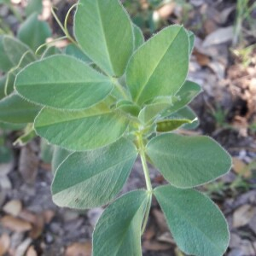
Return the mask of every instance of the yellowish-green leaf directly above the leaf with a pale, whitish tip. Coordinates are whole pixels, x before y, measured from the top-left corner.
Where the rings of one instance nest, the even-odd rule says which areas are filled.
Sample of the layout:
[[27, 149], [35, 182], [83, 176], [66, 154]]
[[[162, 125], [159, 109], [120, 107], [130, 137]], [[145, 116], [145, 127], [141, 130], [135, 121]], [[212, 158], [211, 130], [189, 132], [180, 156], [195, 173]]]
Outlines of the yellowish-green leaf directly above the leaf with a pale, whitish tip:
[[125, 117], [100, 104], [76, 112], [44, 108], [35, 120], [35, 129], [49, 143], [83, 151], [114, 143], [124, 134], [128, 123]]

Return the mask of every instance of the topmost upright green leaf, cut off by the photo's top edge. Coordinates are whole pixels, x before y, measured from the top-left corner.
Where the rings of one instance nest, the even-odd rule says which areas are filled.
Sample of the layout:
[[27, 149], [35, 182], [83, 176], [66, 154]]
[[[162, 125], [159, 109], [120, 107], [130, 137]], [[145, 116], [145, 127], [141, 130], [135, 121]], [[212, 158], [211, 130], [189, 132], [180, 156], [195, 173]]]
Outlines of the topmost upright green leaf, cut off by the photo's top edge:
[[74, 23], [85, 54], [108, 75], [120, 77], [133, 51], [133, 32], [119, 1], [80, 0]]

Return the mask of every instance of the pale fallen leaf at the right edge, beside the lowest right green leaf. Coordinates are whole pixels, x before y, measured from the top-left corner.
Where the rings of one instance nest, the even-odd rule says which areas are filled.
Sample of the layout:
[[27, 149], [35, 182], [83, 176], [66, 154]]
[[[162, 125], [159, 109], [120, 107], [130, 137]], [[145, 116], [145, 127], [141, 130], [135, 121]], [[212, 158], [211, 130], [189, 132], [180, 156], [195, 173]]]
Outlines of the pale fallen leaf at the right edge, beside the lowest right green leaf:
[[233, 227], [239, 228], [248, 224], [256, 214], [256, 207], [244, 205], [239, 207], [233, 216]]

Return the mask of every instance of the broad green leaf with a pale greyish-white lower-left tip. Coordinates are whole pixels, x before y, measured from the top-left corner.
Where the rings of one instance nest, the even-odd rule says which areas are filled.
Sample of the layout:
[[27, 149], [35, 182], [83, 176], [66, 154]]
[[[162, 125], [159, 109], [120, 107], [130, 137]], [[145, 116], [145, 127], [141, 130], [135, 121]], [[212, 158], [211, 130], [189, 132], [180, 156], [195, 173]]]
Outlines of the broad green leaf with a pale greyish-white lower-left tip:
[[55, 174], [53, 201], [75, 209], [106, 205], [123, 188], [136, 158], [137, 148], [124, 138], [105, 148], [69, 155]]

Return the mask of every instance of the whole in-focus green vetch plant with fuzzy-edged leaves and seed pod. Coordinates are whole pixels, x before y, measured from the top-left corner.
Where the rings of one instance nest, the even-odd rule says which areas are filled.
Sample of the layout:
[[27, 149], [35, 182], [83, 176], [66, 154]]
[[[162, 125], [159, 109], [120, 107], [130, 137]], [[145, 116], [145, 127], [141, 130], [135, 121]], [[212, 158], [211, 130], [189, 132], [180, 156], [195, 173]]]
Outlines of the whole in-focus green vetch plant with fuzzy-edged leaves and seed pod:
[[[35, 61], [15, 89], [44, 107], [34, 121], [55, 144], [52, 183], [58, 206], [109, 204], [96, 224], [93, 255], [142, 255], [141, 236], [154, 195], [184, 253], [219, 256], [229, 242], [223, 214], [194, 189], [230, 170], [229, 154], [210, 137], [181, 136], [198, 124], [187, 107], [201, 92], [186, 80], [194, 36], [168, 26], [144, 43], [117, 0], [80, 0], [77, 47], [92, 64], [68, 55]], [[115, 200], [139, 155], [146, 189]], [[152, 187], [148, 163], [169, 183]]]

